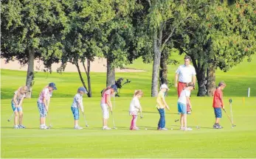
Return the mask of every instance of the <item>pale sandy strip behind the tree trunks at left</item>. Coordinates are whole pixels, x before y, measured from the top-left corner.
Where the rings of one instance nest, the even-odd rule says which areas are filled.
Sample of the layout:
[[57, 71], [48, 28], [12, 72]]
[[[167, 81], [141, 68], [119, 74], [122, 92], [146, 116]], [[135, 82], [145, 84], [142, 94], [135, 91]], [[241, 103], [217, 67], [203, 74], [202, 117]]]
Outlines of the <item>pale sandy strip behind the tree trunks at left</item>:
[[[106, 60], [103, 58], [95, 58], [94, 62], [91, 63], [91, 72], [106, 72]], [[52, 71], [56, 72], [57, 68], [60, 67], [60, 63], [54, 63], [52, 65]], [[9, 63], [5, 63], [5, 59], [1, 59], [1, 68], [3, 69], [11, 69], [11, 70], [18, 70], [18, 71], [27, 71], [27, 65], [21, 66], [17, 60], [10, 61]], [[83, 70], [83, 65], [80, 63], [80, 68]], [[44, 71], [44, 64], [42, 61], [35, 60], [35, 70], [37, 71]], [[67, 63], [66, 65], [66, 72], [76, 72], [77, 68], [72, 63]], [[137, 69], [116, 69], [116, 72], [142, 72], [144, 70], [137, 70]]]

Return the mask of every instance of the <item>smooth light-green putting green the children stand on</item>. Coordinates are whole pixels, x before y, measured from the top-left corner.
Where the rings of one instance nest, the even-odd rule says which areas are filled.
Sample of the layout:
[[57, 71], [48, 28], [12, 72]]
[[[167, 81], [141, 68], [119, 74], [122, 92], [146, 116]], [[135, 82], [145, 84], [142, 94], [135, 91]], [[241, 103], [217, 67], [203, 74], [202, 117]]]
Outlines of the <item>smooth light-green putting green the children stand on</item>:
[[[1, 100], [1, 158], [255, 158], [256, 98], [246, 98], [243, 105], [240, 97], [233, 98], [232, 110], [237, 127], [223, 114], [223, 130], [213, 130], [214, 115], [212, 98], [193, 97], [193, 115], [188, 124], [193, 131], [179, 130], [174, 122], [176, 97], [167, 97], [171, 112], [166, 113], [167, 128], [157, 131], [159, 114], [155, 99], [143, 97], [141, 104], [144, 119], [138, 119], [138, 131], [128, 130], [131, 116], [128, 107], [131, 98], [117, 98], [114, 117], [118, 130], [103, 131], [101, 128], [100, 98], [84, 99], [89, 128], [73, 130], [70, 110], [72, 96], [54, 98], [50, 106], [51, 130], [38, 130], [36, 99], [24, 101], [24, 125], [26, 130], [13, 130], [7, 122], [12, 111], [10, 99]], [[225, 98], [226, 110], [229, 110]], [[229, 111], [228, 111], [229, 113]], [[84, 126], [83, 116], [80, 125]], [[196, 119], [196, 121], [193, 120]], [[196, 123], [201, 127], [196, 130]], [[47, 121], [49, 124], [49, 121]], [[109, 126], [112, 127], [111, 118]], [[148, 130], [145, 130], [145, 127]]]

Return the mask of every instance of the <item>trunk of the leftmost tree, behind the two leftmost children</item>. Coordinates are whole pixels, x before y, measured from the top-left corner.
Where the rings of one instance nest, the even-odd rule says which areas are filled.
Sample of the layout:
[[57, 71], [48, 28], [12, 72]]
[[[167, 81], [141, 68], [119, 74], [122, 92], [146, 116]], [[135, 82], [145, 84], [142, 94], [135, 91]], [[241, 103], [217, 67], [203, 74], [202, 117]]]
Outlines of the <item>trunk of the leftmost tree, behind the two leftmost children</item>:
[[29, 63], [27, 66], [27, 81], [26, 81], [26, 86], [27, 86], [27, 94], [26, 98], [31, 98], [32, 96], [32, 85], [33, 85], [33, 80], [34, 80], [34, 60], [35, 60], [35, 49], [30, 48], [28, 50], [29, 52]]

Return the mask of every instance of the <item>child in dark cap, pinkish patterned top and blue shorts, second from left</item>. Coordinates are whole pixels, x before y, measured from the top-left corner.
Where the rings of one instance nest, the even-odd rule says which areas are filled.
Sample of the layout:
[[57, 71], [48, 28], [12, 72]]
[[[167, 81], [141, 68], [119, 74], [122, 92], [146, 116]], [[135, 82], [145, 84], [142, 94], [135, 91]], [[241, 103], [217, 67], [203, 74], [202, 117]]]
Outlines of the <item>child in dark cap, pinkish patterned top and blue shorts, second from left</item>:
[[40, 129], [46, 130], [49, 127], [46, 127], [46, 114], [49, 110], [49, 101], [52, 96], [52, 91], [57, 90], [54, 82], [50, 82], [40, 93], [38, 97], [38, 110], [40, 113]]

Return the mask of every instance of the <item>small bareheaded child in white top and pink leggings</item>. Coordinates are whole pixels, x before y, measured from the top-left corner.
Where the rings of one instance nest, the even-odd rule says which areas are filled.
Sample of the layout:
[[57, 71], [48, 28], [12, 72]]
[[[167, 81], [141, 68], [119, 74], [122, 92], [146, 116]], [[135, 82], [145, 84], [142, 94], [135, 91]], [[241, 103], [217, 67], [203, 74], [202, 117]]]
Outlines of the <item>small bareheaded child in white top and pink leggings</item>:
[[142, 107], [139, 104], [139, 98], [141, 98], [143, 95], [143, 92], [141, 90], [136, 90], [134, 92], [134, 98], [131, 100], [131, 104], [130, 104], [130, 116], [133, 116], [133, 118], [131, 119], [131, 127], [130, 130], [139, 130], [138, 127], [136, 127], [136, 120], [137, 120], [137, 116], [138, 116], [138, 112], [140, 112], [140, 114], [142, 114]]

